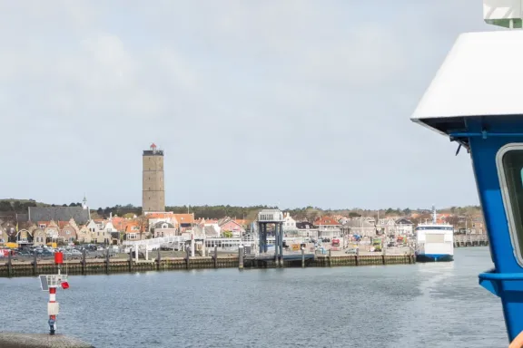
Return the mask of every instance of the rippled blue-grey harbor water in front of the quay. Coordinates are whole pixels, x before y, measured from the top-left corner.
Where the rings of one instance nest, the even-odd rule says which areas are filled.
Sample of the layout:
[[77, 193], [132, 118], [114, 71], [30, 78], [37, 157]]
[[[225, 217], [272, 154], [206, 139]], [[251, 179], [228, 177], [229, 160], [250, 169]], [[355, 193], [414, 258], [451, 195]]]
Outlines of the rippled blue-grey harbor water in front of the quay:
[[[507, 346], [478, 285], [488, 248], [454, 263], [71, 276], [58, 332], [102, 347]], [[47, 331], [36, 278], [0, 278], [2, 330]]]

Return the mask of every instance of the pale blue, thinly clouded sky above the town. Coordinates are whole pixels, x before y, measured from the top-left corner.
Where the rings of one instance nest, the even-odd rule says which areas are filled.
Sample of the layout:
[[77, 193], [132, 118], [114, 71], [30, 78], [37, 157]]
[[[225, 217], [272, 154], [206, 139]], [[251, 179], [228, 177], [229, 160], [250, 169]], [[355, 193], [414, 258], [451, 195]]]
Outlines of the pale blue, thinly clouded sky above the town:
[[0, 2], [0, 198], [425, 208], [479, 202], [410, 121], [476, 0]]

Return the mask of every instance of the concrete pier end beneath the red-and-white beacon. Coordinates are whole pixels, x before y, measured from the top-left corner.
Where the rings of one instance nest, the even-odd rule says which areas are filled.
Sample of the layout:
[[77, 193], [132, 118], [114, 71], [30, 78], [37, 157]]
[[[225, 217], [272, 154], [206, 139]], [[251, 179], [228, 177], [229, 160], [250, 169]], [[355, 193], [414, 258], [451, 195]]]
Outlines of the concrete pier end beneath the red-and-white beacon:
[[0, 333], [2, 348], [94, 348], [91, 343], [82, 342], [63, 334], [48, 333]]

